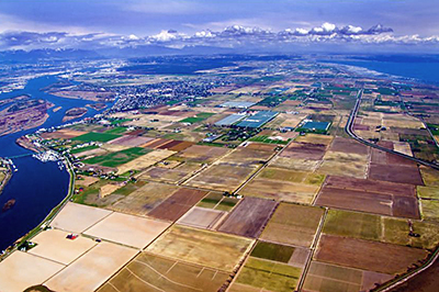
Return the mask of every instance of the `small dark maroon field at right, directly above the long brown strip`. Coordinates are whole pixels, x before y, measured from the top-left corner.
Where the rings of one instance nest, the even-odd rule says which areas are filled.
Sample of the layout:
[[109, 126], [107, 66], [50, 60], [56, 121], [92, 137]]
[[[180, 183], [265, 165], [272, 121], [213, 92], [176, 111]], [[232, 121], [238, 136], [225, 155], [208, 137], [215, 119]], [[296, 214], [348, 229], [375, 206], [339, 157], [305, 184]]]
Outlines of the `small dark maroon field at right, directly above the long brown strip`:
[[369, 178], [374, 180], [424, 186], [417, 166], [379, 165], [372, 162], [369, 169]]

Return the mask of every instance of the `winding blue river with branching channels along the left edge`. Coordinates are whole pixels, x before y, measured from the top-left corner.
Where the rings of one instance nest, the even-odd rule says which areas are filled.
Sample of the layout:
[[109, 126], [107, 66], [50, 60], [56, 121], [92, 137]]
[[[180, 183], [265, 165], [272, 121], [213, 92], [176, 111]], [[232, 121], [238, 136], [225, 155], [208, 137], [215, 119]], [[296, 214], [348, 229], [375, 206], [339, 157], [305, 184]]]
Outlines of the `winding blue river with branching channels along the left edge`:
[[[92, 102], [58, 98], [40, 91], [41, 88], [56, 81], [57, 78], [53, 76], [36, 78], [30, 80], [22, 90], [0, 94], [0, 100], [20, 94], [48, 100], [55, 104], [54, 108], [63, 106], [63, 109], [54, 113], [52, 111], [54, 108], [52, 108], [48, 112], [49, 117], [40, 127], [57, 126], [63, 124], [61, 120], [67, 110]], [[98, 113], [95, 110], [88, 109], [88, 113], [81, 119], [95, 113]], [[1, 136], [0, 157], [30, 154], [31, 150], [20, 147], [15, 141], [40, 127]], [[38, 225], [68, 192], [69, 175], [66, 170], [59, 170], [56, 162], [42, 162], [32, 156], [13, 159], [13, 162], [19, 171], [13, 172], [11, 180], [0, 194], [0, 250]], [[15, 205], [7, 212], [1, 212], [1, 207], [10, 199], [15, 199]]]

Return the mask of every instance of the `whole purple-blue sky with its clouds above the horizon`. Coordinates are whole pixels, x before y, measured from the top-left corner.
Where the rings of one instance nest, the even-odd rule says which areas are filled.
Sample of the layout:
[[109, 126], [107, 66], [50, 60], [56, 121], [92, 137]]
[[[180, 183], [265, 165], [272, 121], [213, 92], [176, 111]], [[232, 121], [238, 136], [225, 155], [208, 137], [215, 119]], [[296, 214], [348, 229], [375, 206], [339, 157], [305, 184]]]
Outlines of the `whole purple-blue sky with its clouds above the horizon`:
[[438, 47], [438, 0], [3, 0], [0, 49], [353, 44], [416, 50]]

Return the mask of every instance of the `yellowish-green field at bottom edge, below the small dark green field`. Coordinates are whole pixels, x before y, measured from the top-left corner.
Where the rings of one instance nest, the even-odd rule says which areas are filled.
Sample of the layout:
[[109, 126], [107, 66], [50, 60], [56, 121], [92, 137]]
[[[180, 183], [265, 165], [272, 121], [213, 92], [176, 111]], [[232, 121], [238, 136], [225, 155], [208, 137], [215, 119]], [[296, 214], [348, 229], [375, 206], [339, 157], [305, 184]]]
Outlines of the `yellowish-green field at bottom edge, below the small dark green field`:
[[249, 258], [236, 279], [243, 283], [273, 292], [294, 291], [302, 269], [257, 258]]

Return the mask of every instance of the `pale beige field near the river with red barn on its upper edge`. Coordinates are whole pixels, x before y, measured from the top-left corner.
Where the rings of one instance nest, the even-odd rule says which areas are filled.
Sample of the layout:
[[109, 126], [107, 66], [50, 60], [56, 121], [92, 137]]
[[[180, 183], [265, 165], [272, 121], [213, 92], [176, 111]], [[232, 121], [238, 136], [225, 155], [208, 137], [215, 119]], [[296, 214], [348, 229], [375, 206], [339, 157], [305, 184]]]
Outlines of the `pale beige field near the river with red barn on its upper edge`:
[[82, 236], [74, 240], [68, 239], [66, 236], [69, 234], [57, 229], [42, 232], [32, 238], [37, 246], [29, 250], [29, 254], [69, 265], [97, 245], [94, 240]]

